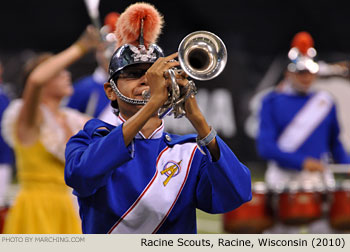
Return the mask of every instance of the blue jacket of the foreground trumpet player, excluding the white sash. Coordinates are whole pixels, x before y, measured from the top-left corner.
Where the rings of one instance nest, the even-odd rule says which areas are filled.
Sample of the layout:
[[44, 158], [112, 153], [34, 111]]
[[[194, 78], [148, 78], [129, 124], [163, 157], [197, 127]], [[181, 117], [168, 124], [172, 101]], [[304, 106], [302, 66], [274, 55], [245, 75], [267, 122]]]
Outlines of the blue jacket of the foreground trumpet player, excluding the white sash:
[[[158, 129], [157, 137], [135, 137], [126, 147], [122, 125], [92, 119], [67, 143], [65, 180], [78, 197], [84, 233], [109, 232], [154, 176], [162, 150], [195, 143], [194, 135], [177, 136]], [[223, 213], [251, 199], [248, 168], [216, 139], [220, 159], [213, 162], [205, 147], [206, 155], [194, 149], [187, 180], [156, 233], [196, 233], [196, 208]]]

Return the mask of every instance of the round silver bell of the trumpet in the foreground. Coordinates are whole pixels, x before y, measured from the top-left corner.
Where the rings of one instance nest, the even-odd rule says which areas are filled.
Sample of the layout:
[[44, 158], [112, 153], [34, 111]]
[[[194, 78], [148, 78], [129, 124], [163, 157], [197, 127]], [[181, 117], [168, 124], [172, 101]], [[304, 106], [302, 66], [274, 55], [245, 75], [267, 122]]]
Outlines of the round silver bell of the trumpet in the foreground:
[[178, 58], [182, 70], [196, 80], [210, 80], [225, 68], [227, 50], [222, 40], [208, 31], [188, 34], [180, 43]]

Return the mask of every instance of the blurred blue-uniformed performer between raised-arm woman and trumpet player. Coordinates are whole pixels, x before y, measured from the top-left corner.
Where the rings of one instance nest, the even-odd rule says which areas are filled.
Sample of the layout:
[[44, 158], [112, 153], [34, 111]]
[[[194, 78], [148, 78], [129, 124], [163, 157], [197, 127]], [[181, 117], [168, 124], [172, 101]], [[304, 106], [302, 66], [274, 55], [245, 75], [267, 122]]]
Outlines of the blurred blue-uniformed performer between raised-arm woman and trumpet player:
[[103, 84], [108, 79], [108, 64], [115, 49], [116, 39], [113, 31], [119, 13], [111, 12], [105, 17], [101, 28], [102, 40], [96, 50], [97, 68], [90, 76], [73, 83], [74, 92], [67, 106], [92, 117], [99, 117], [105, 109], [110, 109]]

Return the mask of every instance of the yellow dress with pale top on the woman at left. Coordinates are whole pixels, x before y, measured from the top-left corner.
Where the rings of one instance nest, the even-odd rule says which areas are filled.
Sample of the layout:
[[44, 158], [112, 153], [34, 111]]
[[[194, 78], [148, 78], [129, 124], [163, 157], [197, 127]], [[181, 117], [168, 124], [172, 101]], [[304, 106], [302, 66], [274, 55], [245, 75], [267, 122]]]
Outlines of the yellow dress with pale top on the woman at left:
[[[3, 135], [16, 156], [19, 192], [5, 220], [6, 234], [77, 234], [81, 222], [71, 189], [64, 182], [64, 131], [50, 111], [41, 105], [44, 115], [40, 137], [24, 146], [14, 134], [14, 122], [21, 100], [11, 103], [3, 119]], [[62, 109], [73, 133], [83, 127], [85, 117], [71, 109]]]

